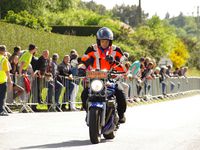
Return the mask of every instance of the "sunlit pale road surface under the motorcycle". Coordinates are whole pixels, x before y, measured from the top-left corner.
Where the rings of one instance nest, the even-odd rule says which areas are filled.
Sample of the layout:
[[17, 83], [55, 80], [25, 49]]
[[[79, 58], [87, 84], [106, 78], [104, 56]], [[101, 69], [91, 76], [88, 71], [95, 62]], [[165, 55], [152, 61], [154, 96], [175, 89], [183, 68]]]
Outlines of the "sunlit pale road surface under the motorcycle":
[[200, 95], [129, 107], [113, 140], [91, 144], [85, 112], [0, 117], [0, 149], [199, 150]]

